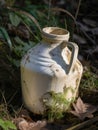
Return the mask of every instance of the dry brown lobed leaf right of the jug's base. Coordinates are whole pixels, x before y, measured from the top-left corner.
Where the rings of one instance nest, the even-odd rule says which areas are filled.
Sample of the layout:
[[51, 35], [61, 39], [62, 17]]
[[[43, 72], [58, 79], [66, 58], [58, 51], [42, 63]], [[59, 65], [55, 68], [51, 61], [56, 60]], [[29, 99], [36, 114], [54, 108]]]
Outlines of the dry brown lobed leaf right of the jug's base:
[[80, 120], [84, 120], [86, 117], [92, 118], [92, 113], [98, 110], [98, 107], [84, 103], [80, 97], [77, 99], [76, 104], [73, 103], [73, 107], [75, 111], [70, 112], [77, 116]]

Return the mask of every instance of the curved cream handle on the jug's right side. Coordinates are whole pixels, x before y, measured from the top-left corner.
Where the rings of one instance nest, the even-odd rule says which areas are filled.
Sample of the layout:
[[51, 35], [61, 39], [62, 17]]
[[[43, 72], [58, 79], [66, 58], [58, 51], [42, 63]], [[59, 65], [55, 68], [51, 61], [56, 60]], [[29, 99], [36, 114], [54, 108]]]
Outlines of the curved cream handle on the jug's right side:
[[78, 46], [73, 42], [67, 42], [67, 47], [70, 47], [72, 49], [70, 63], [67, 67], [67, 74], [70, 74], [77, 60]]

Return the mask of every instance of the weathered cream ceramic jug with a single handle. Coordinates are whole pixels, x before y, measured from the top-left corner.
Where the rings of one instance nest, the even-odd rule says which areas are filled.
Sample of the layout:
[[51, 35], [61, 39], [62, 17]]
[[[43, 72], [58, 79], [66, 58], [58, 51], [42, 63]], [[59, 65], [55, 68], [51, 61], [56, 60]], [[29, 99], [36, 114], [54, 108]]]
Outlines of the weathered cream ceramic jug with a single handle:
[[[36, 114], [43, 114], [51, 107], [51, 93], [61, 94], [69, 105], [75, 100], [83, 67], [79, 60], [78, 46], [69, 42], [69, 32], [58, 27], [41, 31], [42, 41], [31, 48], [21, 61], [21, 81], [24, 103]], [[66, 111], [69, 105], [64, 107]]]

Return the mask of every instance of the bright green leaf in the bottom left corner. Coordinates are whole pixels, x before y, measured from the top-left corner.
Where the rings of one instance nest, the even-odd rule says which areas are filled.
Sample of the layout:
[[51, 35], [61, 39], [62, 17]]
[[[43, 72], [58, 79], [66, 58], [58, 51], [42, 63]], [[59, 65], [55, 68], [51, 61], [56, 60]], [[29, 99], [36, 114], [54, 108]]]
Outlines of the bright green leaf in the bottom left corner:
[[0, 119], [0, 127], [3, 130], [9, 130], [9, 129], [17, 130], [16, 126], [9, 120], [4, 121], [4, 120]]

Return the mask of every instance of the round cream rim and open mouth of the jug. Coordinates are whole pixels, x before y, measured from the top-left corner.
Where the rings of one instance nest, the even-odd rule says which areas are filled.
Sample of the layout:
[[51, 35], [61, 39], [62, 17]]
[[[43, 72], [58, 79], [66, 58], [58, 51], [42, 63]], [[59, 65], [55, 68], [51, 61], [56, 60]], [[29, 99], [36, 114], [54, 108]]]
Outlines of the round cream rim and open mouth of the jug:
[[59, 27], [45, 27], [42, 29], [42, 38], [53, 41], [68, 41], [69, 32]]

